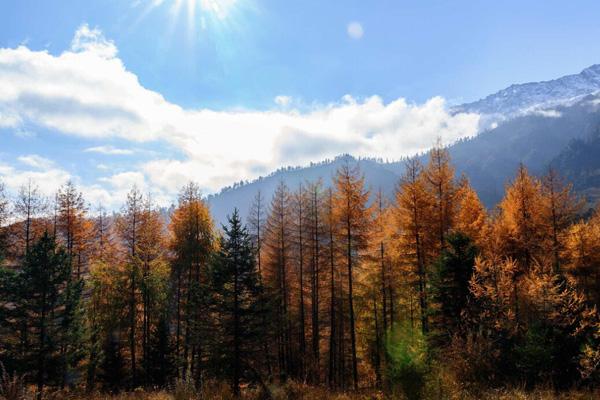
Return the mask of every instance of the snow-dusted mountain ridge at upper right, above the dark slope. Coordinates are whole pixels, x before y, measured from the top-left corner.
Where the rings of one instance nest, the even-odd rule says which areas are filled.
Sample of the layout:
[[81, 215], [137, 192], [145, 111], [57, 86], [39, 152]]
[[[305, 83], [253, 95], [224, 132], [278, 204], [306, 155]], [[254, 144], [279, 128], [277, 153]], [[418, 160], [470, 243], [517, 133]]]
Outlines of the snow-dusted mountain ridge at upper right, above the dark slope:
[[474, 112], [496, 119], [535, 113], [557, 105], [569, 105], [600, 91], [600, 64], [579, 74], [542, 82], [515, 84], [484, 99], [454, 107], [454, 112]]

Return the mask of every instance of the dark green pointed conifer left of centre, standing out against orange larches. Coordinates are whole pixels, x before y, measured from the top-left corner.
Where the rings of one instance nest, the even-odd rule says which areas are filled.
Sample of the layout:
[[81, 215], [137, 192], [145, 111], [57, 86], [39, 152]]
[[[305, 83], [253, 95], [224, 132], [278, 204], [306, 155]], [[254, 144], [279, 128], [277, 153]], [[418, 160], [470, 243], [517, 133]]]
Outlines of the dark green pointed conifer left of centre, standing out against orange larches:
[[216, 365], [231, 380], [233, 392], [240, 394], [240, 382], [260, 379], [256, 362], [261, 359], [264, 334], [262, 288], [248, 231], [237, 209], [223, 227], [220, 249], [211, 269], [215, 309], [220, 332], [216, 344]]

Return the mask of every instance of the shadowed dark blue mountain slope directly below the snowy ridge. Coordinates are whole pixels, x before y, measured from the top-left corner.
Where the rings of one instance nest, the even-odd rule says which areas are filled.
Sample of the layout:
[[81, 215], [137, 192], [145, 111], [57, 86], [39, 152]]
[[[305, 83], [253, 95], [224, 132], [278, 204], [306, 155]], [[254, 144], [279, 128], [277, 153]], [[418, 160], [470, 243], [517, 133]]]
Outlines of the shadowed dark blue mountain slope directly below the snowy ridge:
[[555, 108], [560, 116], [528, 115], [509, 120], [452, 146], [453, 162], [470, 178], [484, 203], [492, 206], [519, 163], [543, 174], [569, 143], [594, 134], [600, 126], [597, 101], [597, 97], [587, 96], [574, 105]]

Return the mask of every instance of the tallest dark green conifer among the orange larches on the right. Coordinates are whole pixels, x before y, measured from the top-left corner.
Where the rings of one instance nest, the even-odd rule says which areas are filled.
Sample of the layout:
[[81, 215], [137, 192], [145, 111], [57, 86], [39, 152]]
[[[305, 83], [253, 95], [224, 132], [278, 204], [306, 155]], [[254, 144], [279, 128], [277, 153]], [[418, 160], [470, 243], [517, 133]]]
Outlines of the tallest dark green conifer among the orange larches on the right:
[[431, 276], [430, 342], [438, 349], [449, 344], [461, 325], [478, 252], [471, 239], [460, 232], [449, 234], [446, 242]]

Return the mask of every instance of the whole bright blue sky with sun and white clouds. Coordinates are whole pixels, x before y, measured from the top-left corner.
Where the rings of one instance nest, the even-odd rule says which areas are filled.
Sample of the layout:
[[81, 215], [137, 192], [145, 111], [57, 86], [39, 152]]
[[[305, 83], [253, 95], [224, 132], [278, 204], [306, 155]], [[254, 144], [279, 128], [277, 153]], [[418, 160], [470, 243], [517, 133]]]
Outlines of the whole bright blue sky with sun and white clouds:
[[473, 136], [449, 107], [600, 62], [597, 1], [0, 0], [0, 180], [162, 205]]

